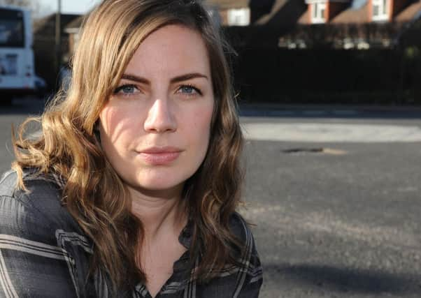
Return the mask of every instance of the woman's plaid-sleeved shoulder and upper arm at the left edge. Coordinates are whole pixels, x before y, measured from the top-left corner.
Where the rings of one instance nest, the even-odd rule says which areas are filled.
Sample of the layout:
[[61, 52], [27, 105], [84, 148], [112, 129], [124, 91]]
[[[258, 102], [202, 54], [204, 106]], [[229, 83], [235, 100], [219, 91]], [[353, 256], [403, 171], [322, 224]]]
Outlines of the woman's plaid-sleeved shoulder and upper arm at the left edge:
[[[16, 188], [16, 182], [15, 172], [0, 179], [0, 257], [6, 286], [14, 288], [16, 297], [87, 296], [92, 243], [62, 206], [61, 188], [47, 177], [27, 173], [27, 191]], [[0, 287], [3, 297], [1, 293]]]

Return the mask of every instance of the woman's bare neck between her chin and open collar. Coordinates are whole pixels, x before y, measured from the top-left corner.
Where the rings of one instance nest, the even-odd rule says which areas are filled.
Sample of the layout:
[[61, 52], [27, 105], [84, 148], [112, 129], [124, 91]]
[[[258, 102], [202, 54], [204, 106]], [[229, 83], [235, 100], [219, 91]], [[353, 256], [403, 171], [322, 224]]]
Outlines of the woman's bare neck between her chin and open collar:
[[166, 234], [178, 234], [187, 222], [181, 191], [145, 193], [130, 190], [131, 211], [143, 223], [144, 240], [154, 242]]

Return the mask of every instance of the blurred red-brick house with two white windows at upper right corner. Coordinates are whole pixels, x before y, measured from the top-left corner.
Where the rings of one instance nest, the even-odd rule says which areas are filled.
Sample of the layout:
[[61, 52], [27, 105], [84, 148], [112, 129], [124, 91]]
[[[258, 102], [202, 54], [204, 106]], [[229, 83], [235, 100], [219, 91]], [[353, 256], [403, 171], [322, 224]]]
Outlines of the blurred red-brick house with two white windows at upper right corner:
[[421, 17], [419, 0], [305, 1], [307, 8], [297, 27], [280, 36], [279, 47], [395, 47], [402, 33]]

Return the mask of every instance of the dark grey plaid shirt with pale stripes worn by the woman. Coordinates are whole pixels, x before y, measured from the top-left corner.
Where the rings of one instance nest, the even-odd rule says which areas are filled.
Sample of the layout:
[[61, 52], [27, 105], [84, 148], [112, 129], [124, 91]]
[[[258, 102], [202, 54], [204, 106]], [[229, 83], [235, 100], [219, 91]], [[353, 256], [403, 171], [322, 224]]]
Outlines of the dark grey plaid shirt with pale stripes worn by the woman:
[[[100, 271], [87, 279], [92, 241], [61, 204], [62, 181], [26, 174], [29, 193], [15, 190], [15, 172], [0, 181], [0, 297], [111, 297]], [[180, 234], [186, 253], [156, 297], [258, 297], [262, 267], [252, 234], [238, 214], [231, 230], [245, 244], [239, 267], [226, 267], [206, 284], [192, 280], [188, 266], [190, 227]], [[118, 297], [152, 298], [143, 283]]]

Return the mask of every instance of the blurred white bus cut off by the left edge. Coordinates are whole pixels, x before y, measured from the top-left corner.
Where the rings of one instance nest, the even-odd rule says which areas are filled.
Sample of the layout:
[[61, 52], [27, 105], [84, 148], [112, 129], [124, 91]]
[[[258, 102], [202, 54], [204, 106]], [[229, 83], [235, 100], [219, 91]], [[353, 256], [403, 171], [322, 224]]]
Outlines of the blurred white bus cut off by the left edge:
[[0, 102], [34, 93], [34, 51], [29, 10], [0, 6]]

